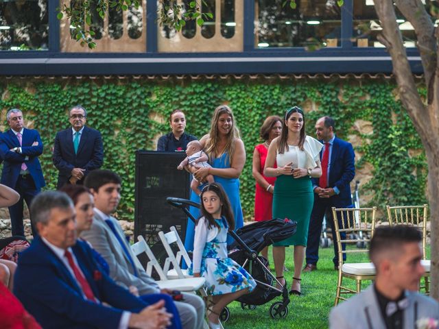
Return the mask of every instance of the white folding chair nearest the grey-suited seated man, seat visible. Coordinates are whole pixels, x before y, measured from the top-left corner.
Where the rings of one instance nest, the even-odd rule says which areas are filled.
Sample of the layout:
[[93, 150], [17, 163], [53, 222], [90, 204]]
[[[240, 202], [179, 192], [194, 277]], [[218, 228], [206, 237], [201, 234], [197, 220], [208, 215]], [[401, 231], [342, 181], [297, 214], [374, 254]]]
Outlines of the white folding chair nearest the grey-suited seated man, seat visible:
[[[157, 271], [158, 276], [160, 277], [160, 280], [156, 281], [158, 287], [160, 287], [161, 289], [179, 290], [185, 292], [198, 291], [202, 289], [202, 287], [204, 287], [204, 283], [206, 282], [206, 279], [204, 278], [181, 278], [176, 280], [169, 280], [165, 275], [165, 272], [161, 268], [160, 264], [158, 263], [156, 256], [154, 256], [145, 239], [143, 239], [143, 236], [137, 236], [137, 240], [138, 242], [134, 243], [134, 245], [131, 246], [132, 252], [136, 256], [139, 256], [140, 254], [145, 252], [147, 257], [149, 258], [149, 261], [146, 265], [146, 273], [148, 276], [151, 276], [153, 268]], [[141, 265], [138, 258], [136, 258], [134, 262], [136, 262], [138, 265]]]

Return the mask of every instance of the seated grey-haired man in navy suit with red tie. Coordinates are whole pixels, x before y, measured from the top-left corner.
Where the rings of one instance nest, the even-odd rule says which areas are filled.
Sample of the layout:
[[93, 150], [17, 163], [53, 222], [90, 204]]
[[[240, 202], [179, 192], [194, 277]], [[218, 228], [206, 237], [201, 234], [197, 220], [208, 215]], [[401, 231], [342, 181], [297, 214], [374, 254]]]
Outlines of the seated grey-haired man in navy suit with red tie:
[[43, 328], [169, 325], [167, 296], [147, 306], [99, 269], [88, 244], [76, 239], [75, 208], [65, 193], [40, 193], [30, 211], [39, 236], [19, 257], [14, 294]]

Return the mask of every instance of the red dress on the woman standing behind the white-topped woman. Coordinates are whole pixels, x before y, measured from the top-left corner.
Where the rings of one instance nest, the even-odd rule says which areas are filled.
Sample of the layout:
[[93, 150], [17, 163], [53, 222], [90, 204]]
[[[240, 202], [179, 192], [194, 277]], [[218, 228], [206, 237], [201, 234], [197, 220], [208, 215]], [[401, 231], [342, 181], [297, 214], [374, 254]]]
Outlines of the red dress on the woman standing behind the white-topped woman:
[[[256, 145], [254, 147], [259, 152], [259, 173], [262, 177], [272, 184], [274, 187], [274, 182], [276, 182], [276, 177], [266, 177], [263, 175], [263, 167], [265, 167], [265, 160], [267, 160], [268, 149], [263, 144]], [[276, 163], [274, 168], [277, 168]], [[256, 183], [256, 193], [254, 193], [254, 220], [255, 221], [268, 221], [272, 219], [272, 206], [273, 206], [273, 194], [268, 192], [261, 185]]]

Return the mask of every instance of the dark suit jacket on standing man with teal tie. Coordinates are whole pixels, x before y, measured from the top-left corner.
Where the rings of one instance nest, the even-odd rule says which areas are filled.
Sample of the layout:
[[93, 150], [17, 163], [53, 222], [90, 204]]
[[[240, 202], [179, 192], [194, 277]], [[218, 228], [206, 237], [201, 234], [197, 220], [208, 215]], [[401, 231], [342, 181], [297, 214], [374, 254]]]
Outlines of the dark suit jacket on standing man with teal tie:
[[52, 160], [59, 171], [57, 188], [61, 188], [69, 181], [73, 168], [85, 169], [84, 176], [91, 170], [99, 169], [104, 162], [101, 133], [84, 126], [78, 154], [75, 154], [71, 127], [57, 132]]

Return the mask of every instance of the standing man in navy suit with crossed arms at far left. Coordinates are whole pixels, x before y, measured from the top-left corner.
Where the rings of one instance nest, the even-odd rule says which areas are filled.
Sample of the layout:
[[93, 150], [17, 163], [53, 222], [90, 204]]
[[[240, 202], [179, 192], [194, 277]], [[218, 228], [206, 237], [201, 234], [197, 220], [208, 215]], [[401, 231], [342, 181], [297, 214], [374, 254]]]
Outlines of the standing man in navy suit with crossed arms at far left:
[[[3, 159], [1, 184], [20, 194], [19, 202], [9, 207], [12, 235], [24, 236], [23, 200], [27, 207], [45, 186], [38, 156], [43, 153], [43, 142], [36, 130], [23, 127], [23, 113], [12, 108], [6, 114], [10, 130], [0, 136], [0, 156]], [[34, 234], [32, 226], [32, 234]]]

